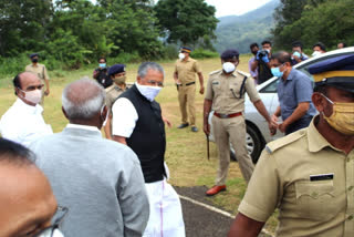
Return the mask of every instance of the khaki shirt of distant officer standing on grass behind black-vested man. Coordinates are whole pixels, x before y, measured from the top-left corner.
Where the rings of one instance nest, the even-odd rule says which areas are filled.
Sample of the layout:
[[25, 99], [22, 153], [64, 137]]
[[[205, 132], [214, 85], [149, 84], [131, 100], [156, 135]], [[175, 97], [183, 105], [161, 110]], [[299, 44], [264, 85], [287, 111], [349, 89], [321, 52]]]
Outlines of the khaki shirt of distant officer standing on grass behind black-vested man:
[[187, 61], [177, 60], [175, 64], [175, 73], [177, 72], [178, 79], [183, 85], [196, 81], [196, 73], [201, 72], [197, 60], [188, 58]]

